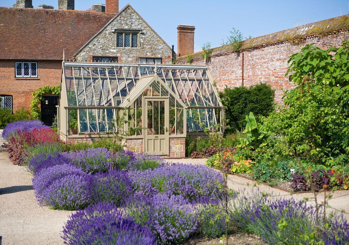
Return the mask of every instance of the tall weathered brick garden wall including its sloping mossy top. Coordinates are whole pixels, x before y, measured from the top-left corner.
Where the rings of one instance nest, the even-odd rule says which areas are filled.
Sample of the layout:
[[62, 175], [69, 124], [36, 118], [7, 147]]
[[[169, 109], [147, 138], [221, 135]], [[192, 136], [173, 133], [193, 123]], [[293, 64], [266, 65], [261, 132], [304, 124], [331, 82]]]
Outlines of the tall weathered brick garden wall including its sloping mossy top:
[[[216, 47], [206, 64], [197, 52], [193, 54], [192, 65], [207, 65], [219, 90], [226, 86], [267, 83], [275, 90], [275, 102], [281, 104], [284, 91], [294, 87], [285, 76], [290, 56], [306, 44], [327, 48], [339, 46], [346, 39], [349, 39], [349, 15], [247, 39], [238, 51], [230, 45]], [[176, 64], [188, 64], [185, 53], [180, 50], [178, 53], [182, 55]]]

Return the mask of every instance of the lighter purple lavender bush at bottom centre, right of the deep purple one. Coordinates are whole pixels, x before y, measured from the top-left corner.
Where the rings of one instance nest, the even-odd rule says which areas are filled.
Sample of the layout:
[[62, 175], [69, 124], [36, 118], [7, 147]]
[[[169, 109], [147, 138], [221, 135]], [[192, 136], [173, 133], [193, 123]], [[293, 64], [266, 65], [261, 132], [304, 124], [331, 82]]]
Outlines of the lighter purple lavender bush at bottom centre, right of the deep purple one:
[[126, 207], [135, 222], [154, 230], [162, 243], [180, 243], [197, 228], [194, 206], [182, 196], [156, 194], [151, 198], [136, 195]]

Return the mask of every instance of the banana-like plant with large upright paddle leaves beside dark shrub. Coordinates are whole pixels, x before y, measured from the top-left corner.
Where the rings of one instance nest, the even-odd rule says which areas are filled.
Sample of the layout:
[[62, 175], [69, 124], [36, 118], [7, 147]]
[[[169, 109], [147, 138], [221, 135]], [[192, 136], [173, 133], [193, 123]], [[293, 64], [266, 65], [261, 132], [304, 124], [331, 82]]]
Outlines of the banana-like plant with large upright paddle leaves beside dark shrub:
[[263, 141], [266, 138], [263, 125], [257, 122], [252, 112], [250, 112], [249, 116], [246, 116], [246, 128], [243, 133], [245, 133], [246, 136], [240, 139], [238, 147], [251, 145], [254, 149], [257, 149], [259, 146], [263, 145]]

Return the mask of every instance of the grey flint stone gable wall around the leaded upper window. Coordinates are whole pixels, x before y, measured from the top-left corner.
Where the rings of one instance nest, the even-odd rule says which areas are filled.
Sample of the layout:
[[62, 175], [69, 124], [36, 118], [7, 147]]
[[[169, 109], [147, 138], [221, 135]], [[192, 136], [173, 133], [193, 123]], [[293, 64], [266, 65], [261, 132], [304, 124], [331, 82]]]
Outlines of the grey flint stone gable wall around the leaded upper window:
[[[117, 47], [115, 30], [141, 30], [139, 47]], [[91, 31], [91, 30], [86, 30]], [[137, 57], [160, 57], [163, 64], [171, 62], [171, 48], [149, 25], [127, 5], [102, 31], [76, 55], [77, 61], [92, 61], [93, 56], [117, 56], [119, 63], [135, 63]]]

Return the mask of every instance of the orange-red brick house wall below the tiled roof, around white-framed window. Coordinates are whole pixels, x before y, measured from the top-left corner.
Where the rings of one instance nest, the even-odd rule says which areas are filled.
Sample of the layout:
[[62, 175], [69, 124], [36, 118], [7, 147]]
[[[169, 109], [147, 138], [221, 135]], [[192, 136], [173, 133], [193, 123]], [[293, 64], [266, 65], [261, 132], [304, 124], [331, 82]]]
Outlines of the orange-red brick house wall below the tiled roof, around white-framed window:
[[[0, 61], [0, 94], [13, 96], [14, 111], [29, 109], [31, 93], [43, 86], [57, 86], [61, 82], [61, 61], [37, 61], [38, 77], [15, 77], [15, 61]], [[36, 60], [34, 60], [36, 61]]]

